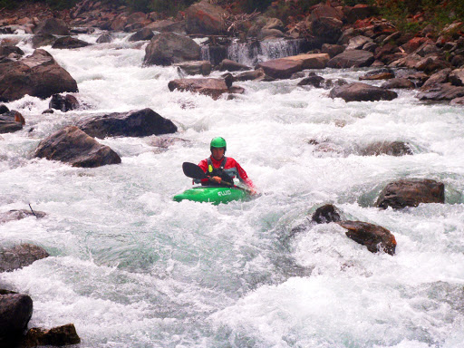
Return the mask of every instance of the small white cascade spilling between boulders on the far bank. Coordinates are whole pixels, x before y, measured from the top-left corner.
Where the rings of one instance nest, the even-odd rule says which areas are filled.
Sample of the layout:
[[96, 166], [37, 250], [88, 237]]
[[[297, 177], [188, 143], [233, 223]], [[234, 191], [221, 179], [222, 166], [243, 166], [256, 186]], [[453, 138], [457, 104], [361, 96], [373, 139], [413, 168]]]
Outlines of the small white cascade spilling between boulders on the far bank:
[[224, 58], [248, 66], [301, 53], [304, 40], [233, 42], [227, 46], [201, 46], [201, 59], [218, 65]]

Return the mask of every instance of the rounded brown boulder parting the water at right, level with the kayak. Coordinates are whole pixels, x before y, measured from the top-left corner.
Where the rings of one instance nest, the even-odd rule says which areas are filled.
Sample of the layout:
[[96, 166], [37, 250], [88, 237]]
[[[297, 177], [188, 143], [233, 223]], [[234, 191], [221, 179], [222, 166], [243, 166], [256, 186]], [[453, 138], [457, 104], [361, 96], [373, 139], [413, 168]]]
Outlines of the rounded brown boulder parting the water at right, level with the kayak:
[[445, 185], [431, 179], [401, 179], [389, 183], [382, 190], [376, 207], [417, 207], [420, 203], [444, 203]]

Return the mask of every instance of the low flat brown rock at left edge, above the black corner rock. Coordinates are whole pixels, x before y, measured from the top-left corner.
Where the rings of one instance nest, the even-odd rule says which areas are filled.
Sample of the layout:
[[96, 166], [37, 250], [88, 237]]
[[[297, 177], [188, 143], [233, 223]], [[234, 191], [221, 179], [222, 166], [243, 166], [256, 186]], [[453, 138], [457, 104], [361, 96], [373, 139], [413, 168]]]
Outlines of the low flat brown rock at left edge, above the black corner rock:
[[43, 247], [32, 244], [21, 244], [12, 248], [0, 249], [0, 272], [12, 272], [25, 266], [30, 266], [34, 261], [50, 256]]

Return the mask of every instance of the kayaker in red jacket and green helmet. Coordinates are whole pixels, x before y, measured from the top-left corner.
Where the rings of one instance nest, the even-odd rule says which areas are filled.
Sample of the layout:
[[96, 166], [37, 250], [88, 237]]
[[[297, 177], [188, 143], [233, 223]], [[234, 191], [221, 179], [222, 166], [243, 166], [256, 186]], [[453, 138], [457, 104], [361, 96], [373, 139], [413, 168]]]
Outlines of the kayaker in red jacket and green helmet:
[[[198, 163], [198, 167], [203, 169], [208, 178], [195, 180], [203, 186], [223, 186], [223, 181], [234, 184], [234, 178], [247, 185], [252, 194], [256, 193], [253, 182], [248, 178], [247, 172], [238, 164], [237, 160], [226, 157], [224, 154], [227, 150], [226, 140], [222, 137], [213, 138], [209, 144], [211, 156], [208, 159]], [[227, 185], [227, 184], [226, 184]]]

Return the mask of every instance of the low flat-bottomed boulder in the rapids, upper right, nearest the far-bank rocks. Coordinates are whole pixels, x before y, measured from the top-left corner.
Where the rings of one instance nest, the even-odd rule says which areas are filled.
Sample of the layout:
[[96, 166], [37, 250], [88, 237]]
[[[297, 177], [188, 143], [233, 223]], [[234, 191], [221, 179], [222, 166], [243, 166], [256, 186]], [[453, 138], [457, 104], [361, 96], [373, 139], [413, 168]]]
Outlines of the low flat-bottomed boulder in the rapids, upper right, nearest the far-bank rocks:
[[375, 102], [391, 101], [397, 98], [398, 94], [370, 84], [354, 82], [334, 87], [329, 96], [342, 98], [345, 102]]

